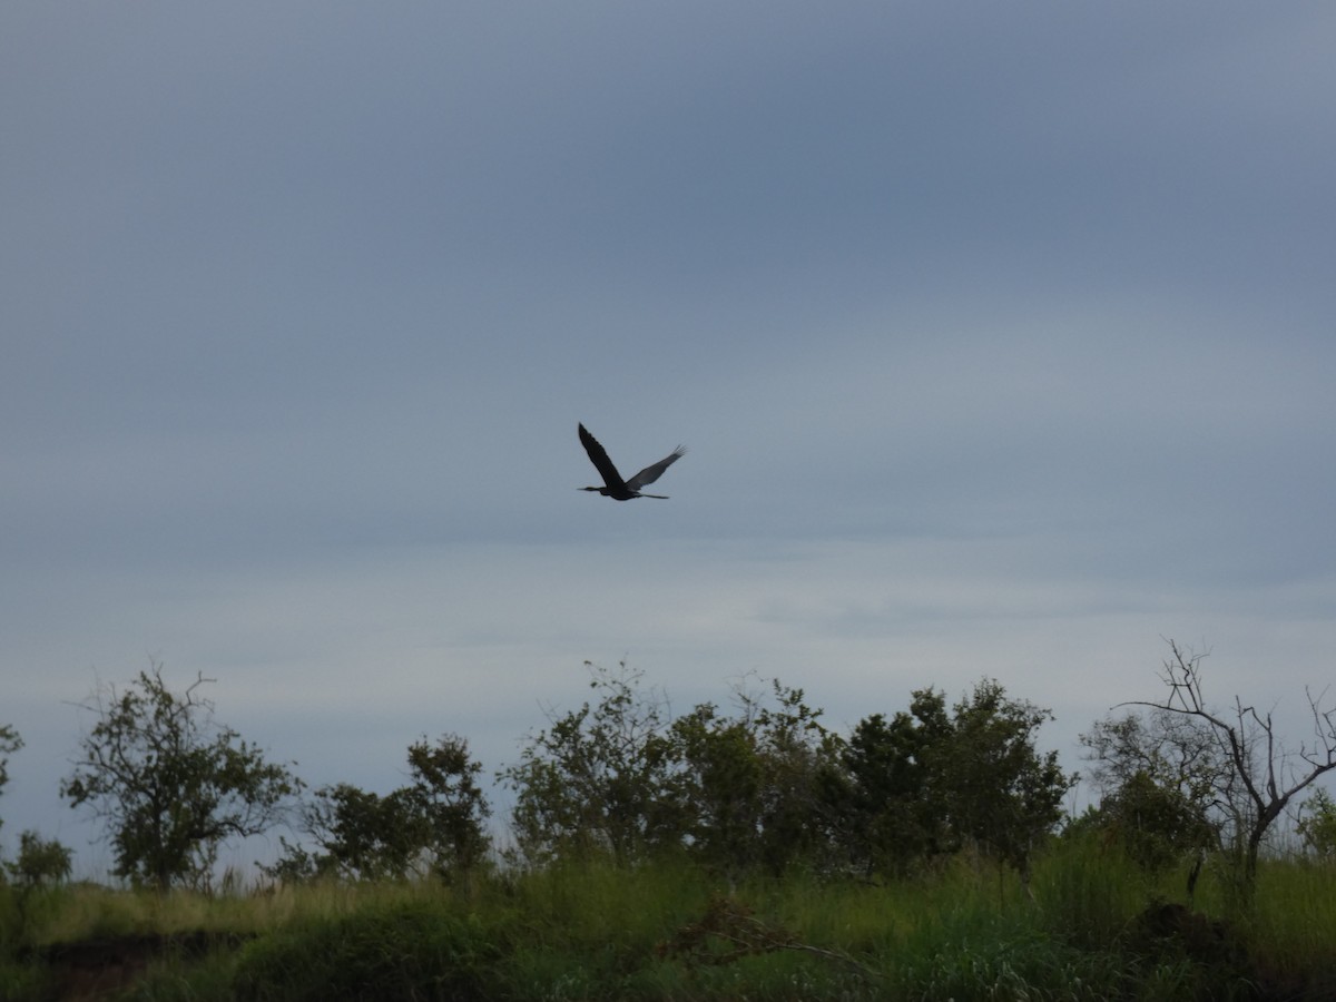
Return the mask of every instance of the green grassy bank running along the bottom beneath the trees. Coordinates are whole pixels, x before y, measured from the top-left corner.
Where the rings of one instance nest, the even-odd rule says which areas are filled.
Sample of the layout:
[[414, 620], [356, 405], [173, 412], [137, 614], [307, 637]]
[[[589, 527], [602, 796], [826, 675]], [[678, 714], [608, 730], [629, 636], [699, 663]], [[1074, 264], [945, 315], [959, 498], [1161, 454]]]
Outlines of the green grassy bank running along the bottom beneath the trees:
[[104, 989], [163, 1001], [1336, 995], [1336, 871], [1271, 862], [1246, 914], [1213, 874], [1193, 911], [1178, 883], [1069, 846], [1037, 867], [1033, 899], [966, 863], [884, 886], [791, 874], [729, 888], [661, 863], [464, 888], [4, 888], [0, 998], [87, 989], [71, 943], [138, 945]]

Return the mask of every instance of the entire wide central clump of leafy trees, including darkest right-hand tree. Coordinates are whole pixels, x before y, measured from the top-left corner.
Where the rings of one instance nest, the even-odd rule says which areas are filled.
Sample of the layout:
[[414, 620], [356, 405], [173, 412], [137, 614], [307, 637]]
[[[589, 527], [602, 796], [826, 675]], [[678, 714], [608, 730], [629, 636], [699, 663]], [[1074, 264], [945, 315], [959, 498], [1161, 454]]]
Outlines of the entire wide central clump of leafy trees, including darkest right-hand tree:
[[995, 681], [951, 709], [918, 691], [908, 712], [870, 716], [844, 740], [778, 680], [764, 699], [736, 689], [733, 712], [703, 703], [669, 720], [625, 665], [593, 671], [601, 697], [552, 715], [501, 774], [530, 864], [683, 851], [733, 883], [795, 864], [907, 872], [969, 844], [1023, 878], [1075, 780], [1035, 749], [1049, 712]]

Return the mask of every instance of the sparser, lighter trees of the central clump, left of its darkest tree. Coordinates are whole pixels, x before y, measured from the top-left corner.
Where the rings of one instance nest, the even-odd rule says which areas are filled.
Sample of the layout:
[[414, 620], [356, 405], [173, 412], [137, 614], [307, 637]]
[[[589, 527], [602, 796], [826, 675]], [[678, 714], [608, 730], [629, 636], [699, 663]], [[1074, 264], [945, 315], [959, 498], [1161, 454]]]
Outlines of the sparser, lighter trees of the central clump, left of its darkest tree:
[[735, 879], [819, 854], [819, 786], [838, 743], [800, 689], [774, 683], [774, 705], [737, 689], [735, 715], [704, 703], [671, 720], [667, 697], [625, 664], [591, 669], [600, 699], [550, 715], [500, 774], [517, 791], [518, 859], [631, 864], [685, 851]]

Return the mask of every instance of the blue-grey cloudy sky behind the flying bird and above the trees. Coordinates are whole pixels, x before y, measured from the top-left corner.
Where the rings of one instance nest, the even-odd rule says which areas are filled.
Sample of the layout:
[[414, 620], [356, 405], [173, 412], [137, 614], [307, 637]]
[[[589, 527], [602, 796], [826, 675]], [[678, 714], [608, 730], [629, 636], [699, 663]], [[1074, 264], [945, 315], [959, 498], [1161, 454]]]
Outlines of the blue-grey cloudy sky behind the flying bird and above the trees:
[[[0, 11], [0, 800], [151, 661], [313, 784], [625, 659], [846, 728], [1304, 720], [1336, 651], [1327, 3]], [[679, 442], [619, 504], [624, 473]], [[1301, 736], [1301, 733], [1295, 735]]]

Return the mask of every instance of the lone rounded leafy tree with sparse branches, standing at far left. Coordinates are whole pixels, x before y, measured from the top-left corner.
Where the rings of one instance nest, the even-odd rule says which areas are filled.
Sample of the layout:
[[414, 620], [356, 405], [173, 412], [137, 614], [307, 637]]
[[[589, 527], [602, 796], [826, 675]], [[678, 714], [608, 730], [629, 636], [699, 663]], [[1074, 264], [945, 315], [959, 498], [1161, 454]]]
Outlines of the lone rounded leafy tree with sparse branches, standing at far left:
[[178, 695], [154, 664], [123, 691], [99, 688], [83, 704], [98, 723], [60, 784], [71, 807], [108, 823], [116, 875], [159, 891], [207, 887], [219, 844], [278, 824], [303, 786], [215, 723], [206, 681]]

